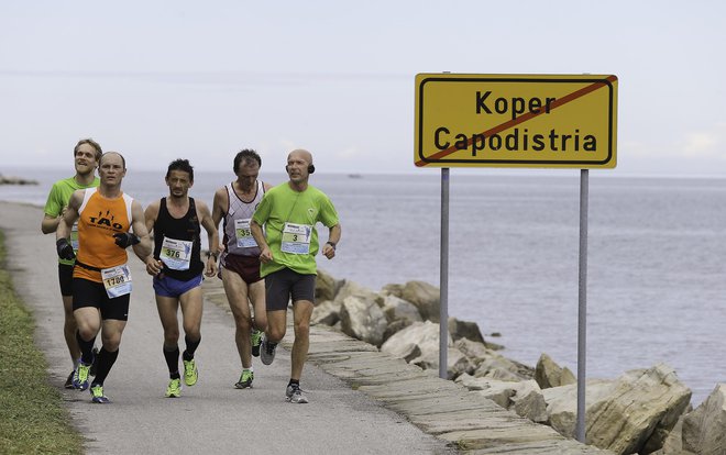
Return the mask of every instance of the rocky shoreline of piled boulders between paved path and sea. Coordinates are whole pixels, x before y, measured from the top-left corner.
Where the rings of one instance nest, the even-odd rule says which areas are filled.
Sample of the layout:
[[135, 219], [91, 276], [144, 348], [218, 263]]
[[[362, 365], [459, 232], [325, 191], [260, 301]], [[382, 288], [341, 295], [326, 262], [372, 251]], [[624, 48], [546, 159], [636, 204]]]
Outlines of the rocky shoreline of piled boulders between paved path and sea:
[[[314, 324], [324, 324], [424, 370], [438, 371], [439, 289], [422, 282], [375, 292], [319, 270]], [[535, 367], [501, 354], [474, 322], [449, 318], [448, 378], [499, 407], [574, 437], [576, 379], [542, 354]], [[586, 384], [587, 444], [617, 454], [726, 453], [726, 384], [696, 409], [666, 364]]]

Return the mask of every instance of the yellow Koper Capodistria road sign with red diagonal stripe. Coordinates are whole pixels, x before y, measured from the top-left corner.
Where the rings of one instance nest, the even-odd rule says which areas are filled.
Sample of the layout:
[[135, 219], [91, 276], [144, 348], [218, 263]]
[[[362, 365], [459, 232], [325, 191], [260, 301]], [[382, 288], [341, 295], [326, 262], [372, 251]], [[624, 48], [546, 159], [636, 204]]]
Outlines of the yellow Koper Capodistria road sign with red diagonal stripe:
[[617, 77], [416, 75], [419, 167], [614, 168]]

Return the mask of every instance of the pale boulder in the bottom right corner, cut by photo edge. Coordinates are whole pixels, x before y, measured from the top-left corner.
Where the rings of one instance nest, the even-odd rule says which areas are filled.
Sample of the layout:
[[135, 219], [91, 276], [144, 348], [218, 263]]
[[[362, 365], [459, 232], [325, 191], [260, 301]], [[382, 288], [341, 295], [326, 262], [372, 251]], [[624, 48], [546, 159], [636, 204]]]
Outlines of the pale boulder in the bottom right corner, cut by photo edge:
[[726, 454], [726, 384], [683, 418], [683, 448], [704, 455]]

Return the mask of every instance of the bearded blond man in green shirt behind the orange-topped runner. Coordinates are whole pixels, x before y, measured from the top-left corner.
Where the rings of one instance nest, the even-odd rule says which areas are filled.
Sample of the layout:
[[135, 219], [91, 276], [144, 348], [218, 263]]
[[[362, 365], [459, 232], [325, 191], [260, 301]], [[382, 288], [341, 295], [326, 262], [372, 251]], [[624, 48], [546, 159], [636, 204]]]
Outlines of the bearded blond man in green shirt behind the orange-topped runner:
[[[101, 158], [101, 146], [90, 138], [78, 141], [76, 147], [73, 149], [74, 165], [76, 167], [76, 175], [73, 177], [64, 178], [51, 188], [47, 202], [45, 202], [45, 215], [41, 222], [41, 231], [44, 234], [50, 234], [56, 231], [58, 223], [63, 218], [63, 213], [68, 206], [70, 195], [77, 189], [98, 187], [99, 179], [96, 177], [95, 171]], [[70, 241], [74, 249], [78, 249], [78, 232], [74, 229], [70, 234]], [[73, 260], [58, 259], [58, 282], [61, 284], [61, 297], [63, 298], [63, 308], [65, 312], [65, 322], [63, 324], [63, 334], [66, 339], [66, 345], [70, 353], [70, 360], [73, 363], [73, 371], [66, 379], [65, 388], [72, 389], [73, 374], [76, 370], [78, 358], [80, 357], [80, 349], [76, 341], [76, 320], [73, 314]]]

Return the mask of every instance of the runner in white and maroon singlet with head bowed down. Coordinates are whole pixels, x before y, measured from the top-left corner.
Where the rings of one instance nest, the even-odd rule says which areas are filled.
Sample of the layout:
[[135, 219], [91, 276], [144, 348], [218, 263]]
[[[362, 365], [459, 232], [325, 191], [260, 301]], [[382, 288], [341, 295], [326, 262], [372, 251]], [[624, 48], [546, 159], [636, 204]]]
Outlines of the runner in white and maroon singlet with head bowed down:
[[[260, 247], [250, 232], [250, 220], [272, 186], [257, 180], [262, 158], [253, 149], [237, 154], [233, 170], [237, 180], [215, 192], [212, 221], [222, 231], [224, 251], [220, 259], [220, 277], [234, 317], [234, 342], [242, 363], [238, 389], [252, 387], [252, 356], [260, 355], [262, 333], [267, 326], [265, 281], [260, 277]], [[254, 318], [250, 310], [254, 309]]]

